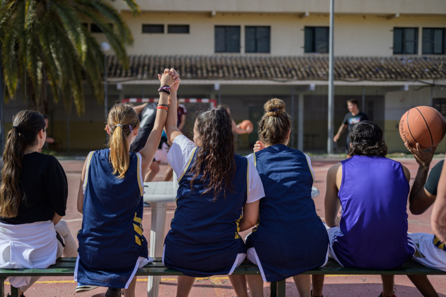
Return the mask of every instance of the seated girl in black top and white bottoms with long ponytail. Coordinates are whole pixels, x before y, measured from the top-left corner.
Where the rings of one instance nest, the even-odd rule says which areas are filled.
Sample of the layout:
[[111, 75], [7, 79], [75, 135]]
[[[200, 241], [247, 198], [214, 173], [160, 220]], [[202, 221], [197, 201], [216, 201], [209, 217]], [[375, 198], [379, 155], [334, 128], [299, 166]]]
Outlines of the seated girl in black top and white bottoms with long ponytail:
[[[62, 253], [77, 255], [76, 242], [61, 220], [67, 180], [54, 156], [38, 152], [47, 136], [42, 114], [20, 111], [12, 125], [1, 168], [0, 268], [46, 268]], [[10, 277], [9, 282], [23, 296], [38, 279]]]

